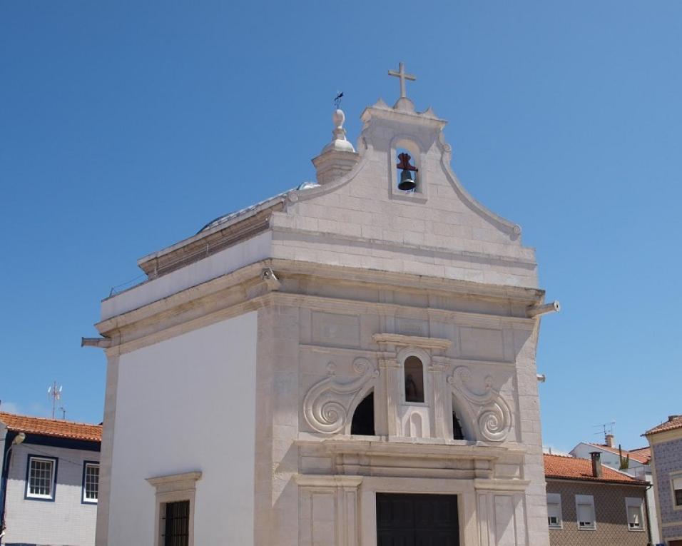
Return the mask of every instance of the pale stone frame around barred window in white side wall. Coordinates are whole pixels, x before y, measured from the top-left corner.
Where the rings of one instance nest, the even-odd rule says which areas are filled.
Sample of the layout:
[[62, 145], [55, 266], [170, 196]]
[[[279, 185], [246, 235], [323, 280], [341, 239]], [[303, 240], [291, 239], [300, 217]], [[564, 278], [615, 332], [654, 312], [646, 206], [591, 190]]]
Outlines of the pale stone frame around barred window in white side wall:
[[201, 479], [201, 472], [183, 472], [164, 476], [148, 477], [146, 481], [156, 489], [156, 511], [154, 545], [163, 546], [164, 519], [166, 504], [188, 500], [190, 516], [188, 522], [188, 545], [194, 546], [194, 505], [196, 497], [196, 482]]

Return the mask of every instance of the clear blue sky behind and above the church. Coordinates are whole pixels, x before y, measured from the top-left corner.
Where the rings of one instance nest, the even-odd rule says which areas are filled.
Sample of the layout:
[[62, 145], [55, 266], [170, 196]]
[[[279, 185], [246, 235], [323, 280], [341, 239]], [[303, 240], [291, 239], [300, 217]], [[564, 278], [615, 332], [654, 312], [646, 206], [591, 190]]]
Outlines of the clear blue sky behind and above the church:
[[[0, 399], [99, 421], [101, 298], [137, 258], [314, 178], [345, 92], [449, 120], [473, 196], [524, 228], [544, 443], [682, 413], [679, 1], [0, 2]], [[409, 226], [406, 226], [409, 229]]]

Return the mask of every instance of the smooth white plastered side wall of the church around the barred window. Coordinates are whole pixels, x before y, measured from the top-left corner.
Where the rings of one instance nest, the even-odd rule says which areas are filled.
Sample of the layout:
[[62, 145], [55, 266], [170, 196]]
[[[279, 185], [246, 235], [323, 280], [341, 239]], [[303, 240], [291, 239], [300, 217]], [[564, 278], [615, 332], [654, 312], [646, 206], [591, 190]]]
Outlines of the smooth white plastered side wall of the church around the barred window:
[[193, 470], [194, 543], [253, 543], [256, 315], [121, 355], [108, 545], [152, 545], [146, 478]]

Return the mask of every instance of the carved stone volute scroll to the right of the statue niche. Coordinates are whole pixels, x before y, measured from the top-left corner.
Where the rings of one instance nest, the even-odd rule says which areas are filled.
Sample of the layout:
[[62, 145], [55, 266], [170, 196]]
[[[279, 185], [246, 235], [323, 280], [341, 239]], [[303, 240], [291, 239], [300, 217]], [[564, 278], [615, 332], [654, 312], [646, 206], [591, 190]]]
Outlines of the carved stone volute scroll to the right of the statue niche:
[[509, 404], [502, 398], [499, 390], [493, 387], [491, 375], [484, 379], [482, 393], [472, 390], [471, 380], [472, 371], [467, 366], [455, 368], [452, 375], [447, 378], [458, 399], [469, 403], [467, 409], [472, 415], [480, 439], [489, 442], [504, 441], [512, 430], [512, 410]]

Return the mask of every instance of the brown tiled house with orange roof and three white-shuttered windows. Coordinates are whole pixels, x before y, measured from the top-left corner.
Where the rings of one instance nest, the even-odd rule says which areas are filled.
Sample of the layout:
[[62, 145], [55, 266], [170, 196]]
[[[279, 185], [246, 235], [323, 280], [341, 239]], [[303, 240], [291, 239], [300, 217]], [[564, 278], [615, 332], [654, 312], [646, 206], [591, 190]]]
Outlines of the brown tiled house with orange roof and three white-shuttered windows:
[[646, 546], [648, 483], [591, 459], [544, 455], [551, 546]]

